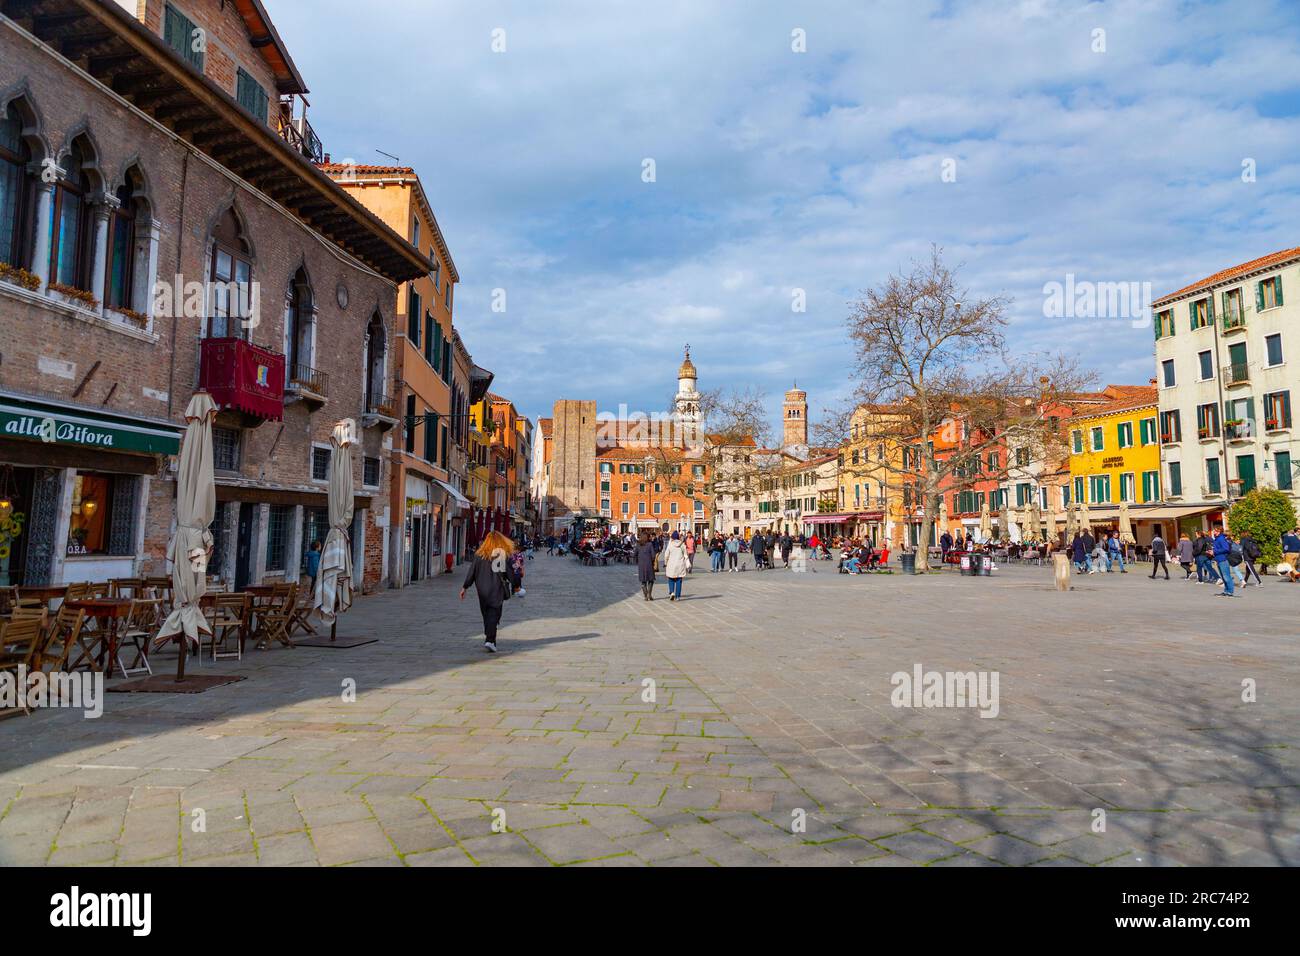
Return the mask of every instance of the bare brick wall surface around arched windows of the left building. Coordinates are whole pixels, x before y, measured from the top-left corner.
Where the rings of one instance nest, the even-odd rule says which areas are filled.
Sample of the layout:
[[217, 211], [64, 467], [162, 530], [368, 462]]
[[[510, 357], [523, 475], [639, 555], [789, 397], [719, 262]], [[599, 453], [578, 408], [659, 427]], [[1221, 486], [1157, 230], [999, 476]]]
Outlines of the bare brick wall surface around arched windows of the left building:
[[[217, 8], [216, 0], [207, 5]], [[318, 410], [295, 402], [285, 408], [282, 423], [247, 431], [242, 476], [291, 490], [324, 492], [324, 485], [311, 480], [311, 445], [328, 444], [338, 419], [358, 419], [360, 425], [365, 326], [376, 308], [391, 326], [395, 285], [356, 268], [291, 215], [240, 187], [13, 30], [0, 27], [0, 107], [20, 90], [32, 101], [40, 137], [53, 151], [65, 152], [72, 137], [87, 129], [109, 191], [130, 165], [144, 172], [152, 216], [160, 222], [160, 280], [181, 274], [182, 281], [202, 282], [211, 229], [225, 209], [235, 207], [252, 247], [254, 278], [261, 282], [261, 323], [252, 332], [256, 345], [283, 351], [283, 297], [294, 273], [306, 267], [318, 308], [315, 364], [329, 376], [328, 401]], [[335, 298], [341, 282], [348, 290], [346, 311]], [[151, 336], [133, 336], [107, 321], [61, 315], [0, 290], [0, 388], [181, 421], [196, 386], [202, 324], [194, 317], [159, 317]], [[99, 369], [74, 398], [96, 360]], [[360, 434], [355, 485], [361, 489], [364, 455], [381, 460], [380, 488], [386, 489], [382, 434], [377, 429]], [[148, 570], [161, 571], [174, 497], [169, 475], [153, 483], [150, 497], [146, 553], [153, 566]], [[377, 493], [374, 509], [382, 507], [382, 493]], [[378, 566], [376, 559], [374, 580]]]

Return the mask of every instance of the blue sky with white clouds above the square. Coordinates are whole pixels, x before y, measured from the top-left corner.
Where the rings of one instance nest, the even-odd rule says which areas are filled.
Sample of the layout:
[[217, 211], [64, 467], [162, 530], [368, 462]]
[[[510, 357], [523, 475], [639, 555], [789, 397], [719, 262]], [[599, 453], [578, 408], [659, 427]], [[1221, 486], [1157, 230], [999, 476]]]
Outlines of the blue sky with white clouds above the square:
[[663, 408], [685, 342], [703, 388], [797, 380], [815, 415], [849, 302], [931, 243], [1017, 349], [1145, 382], [1148, 328], [1044, 317], [1044, 285], [1158, 297], [1300, 245], [1294, 0], [268, 8], [334, 160], [419, 170], [456, 325], [530, 416]]

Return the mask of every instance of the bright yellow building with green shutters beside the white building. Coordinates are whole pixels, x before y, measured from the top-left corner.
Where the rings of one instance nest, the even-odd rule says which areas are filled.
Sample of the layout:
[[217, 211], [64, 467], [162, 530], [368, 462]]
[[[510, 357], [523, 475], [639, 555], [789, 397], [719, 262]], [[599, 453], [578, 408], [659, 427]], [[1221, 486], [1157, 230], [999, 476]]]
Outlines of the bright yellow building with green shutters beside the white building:
[[1162, 498], [1156, 389], [1130, 392], [1069, 420], [1070, 503], [1088, 502], [1093, 522], [1101, 525], [1118, 514], [1121, 502], [1140, 506]]

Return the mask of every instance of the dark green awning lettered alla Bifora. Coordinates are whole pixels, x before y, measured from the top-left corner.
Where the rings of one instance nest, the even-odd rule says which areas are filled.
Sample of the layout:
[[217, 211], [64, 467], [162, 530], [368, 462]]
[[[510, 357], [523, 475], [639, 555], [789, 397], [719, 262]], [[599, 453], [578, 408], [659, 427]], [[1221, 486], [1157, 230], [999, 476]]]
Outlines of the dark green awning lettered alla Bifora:
[[182, 428], [156, 419], [0, 392], [0, 437], [104, 451], [174, 455]]

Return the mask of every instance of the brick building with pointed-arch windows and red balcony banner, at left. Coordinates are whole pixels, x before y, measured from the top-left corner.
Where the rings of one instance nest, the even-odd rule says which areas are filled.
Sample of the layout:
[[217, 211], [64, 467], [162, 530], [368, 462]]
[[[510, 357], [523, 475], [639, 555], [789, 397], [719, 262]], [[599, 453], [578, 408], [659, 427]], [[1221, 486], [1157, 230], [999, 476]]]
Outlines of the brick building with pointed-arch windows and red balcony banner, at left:
[[25, 533], [0, 581], [165, 571], [202, 386], [222, 407], [211, 570], [296, 579], [350, 418], [354, 561], [377, 587], [391, 437], [368, 381], [391, 367], [396, 284], [432, 264], [313, 166], [306, 87], [260, 3], [5, 12], [0, 468]]

